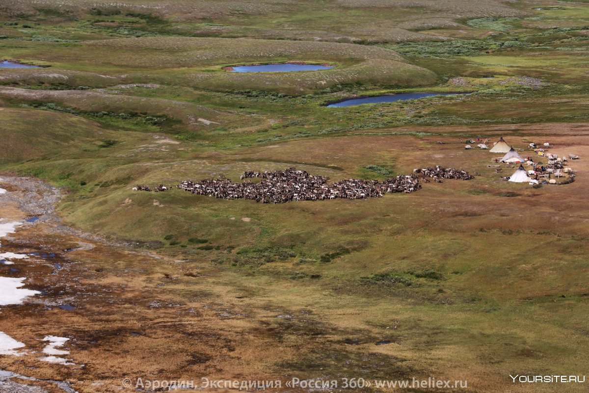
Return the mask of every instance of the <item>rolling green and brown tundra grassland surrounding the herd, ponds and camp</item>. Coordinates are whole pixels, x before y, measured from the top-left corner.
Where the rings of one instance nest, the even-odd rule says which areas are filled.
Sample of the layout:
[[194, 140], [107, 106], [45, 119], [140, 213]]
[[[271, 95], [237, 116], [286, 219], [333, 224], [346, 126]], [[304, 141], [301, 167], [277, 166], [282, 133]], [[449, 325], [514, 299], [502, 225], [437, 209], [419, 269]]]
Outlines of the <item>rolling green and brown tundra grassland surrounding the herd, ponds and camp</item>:
[[[46, 67], [0, 69], [2, 176], [61, 187], [62, 224], [103, 241], [65, 255], [63, 276], [18, 266], [78, 309], [0, 317], [0, 331], [27, 341], [43, 312], [86, 367], [1, 357], [0, 368], [81, 393], [146, 376], [435, 377], [519, 393], [530, 386], [509, 374], [582, 374], [587, 12], [554, 1], [6, 2], [0, 59]], [[334, 68], [224, 69], [284, 61]], [[325, 106], [402, 92], [464, 94]], [[515, 168], [498, 173], [494, 154], [461, 142], [499, 136], [524, 156], [530, 142], [580, 155], [577, 178], [511, 184], [501, 176]], [[479, 176], [280, 205], [132, 191], [290, 166], [338, 181], [434, 165]], [[80, 241], [39, 225], [21, 247]]]

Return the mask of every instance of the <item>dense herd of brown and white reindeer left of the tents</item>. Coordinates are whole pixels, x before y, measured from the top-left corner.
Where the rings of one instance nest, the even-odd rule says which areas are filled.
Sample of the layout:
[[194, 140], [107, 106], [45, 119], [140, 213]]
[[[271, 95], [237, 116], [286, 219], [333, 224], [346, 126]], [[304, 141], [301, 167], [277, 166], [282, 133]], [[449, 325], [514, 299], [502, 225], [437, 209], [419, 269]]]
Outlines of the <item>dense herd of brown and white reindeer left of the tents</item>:
[[[180, 182], [176, 187], [197, 195], [214, 196], [221, 199], [252, 199], [261, 203], [282, 204], [291, 201], [323, 201], [325, 199], [366, 199], [379, 198], [388, 192], [405, 192], [409, 194], [421, 189], [419, 180], [434, 178], [441, 179], [472, 179], [473, 176], [462, 169], [435, 168], [415, 169], [411, 175], [399, 175], [385, 181], [365, 179], [345, 179], [329, 183], [329, 177], [311, 175], [309, 172], [296, 168], [288, 168], [276, 172], [247, 171], [241, 175], [241, 180], [260, 178], [259, 182], [245, 180], [233, 182], [221, 176], [217, 179]], [[428, 179], [425, 179], [429, 182]], [[137, 186], [135, 191], [151, 191], [148, 186]], [[164, 185], [159, 185], [154, 191], [166, 191]]]

